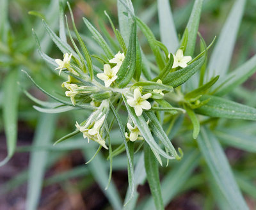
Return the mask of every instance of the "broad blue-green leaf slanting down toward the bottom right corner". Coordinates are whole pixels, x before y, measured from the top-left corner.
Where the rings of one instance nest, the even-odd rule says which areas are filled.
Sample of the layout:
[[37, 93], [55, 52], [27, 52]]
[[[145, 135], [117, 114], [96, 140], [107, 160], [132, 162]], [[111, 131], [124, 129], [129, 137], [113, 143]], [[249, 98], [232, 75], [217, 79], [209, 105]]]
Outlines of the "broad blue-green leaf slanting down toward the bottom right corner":
[[216, 183], [232, 209], [248, 210], [220, 143], [207, 128], [201, 128], [198, 145]]

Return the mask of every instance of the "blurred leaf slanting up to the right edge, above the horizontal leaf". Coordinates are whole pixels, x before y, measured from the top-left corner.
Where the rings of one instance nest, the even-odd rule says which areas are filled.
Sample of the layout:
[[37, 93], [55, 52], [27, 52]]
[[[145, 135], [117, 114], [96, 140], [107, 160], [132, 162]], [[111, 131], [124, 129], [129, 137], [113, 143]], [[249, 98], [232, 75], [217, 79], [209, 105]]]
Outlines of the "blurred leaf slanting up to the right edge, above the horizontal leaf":
[[221, 84], [218, 91], [215, 93], [217, 96], [223, 96], [230, 91], [232, 91], [235, 87], [243, 84], [244, 81], [248, 79], [248, 77], [252, 76], [256, 71], [256, 55], [250, 58], [246, 63], [239, 66], [236, 70], [231, 71], [227, 74], [223, 80], [223, 84]]

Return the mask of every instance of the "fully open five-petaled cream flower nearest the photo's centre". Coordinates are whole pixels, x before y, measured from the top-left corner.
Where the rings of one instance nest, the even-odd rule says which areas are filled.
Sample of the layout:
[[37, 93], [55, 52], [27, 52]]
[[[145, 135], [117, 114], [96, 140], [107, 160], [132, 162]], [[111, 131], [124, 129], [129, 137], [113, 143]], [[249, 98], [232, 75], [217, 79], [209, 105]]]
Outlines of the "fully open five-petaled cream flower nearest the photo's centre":
[[151, 109], [150, 103], [147, 101], [148, 98], [152, 96], [151, 93], [147, 93], [143, 96], [141, 96], [140, 89], [136, 88], [133, 92], [133, 98], [130, 96], [127, 96], [127, 103], [134, 107], [136, 116], [141, 116], [143, 109]]

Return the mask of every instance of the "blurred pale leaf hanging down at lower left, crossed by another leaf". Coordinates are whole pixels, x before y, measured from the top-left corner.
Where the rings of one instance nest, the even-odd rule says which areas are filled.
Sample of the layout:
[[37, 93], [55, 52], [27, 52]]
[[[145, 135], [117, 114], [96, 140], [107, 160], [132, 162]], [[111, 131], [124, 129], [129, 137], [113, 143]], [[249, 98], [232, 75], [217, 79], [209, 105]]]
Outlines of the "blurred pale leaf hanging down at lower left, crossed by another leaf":
[[[44, 147], [51, 145], [55, 131], [56, 116], [53, 114], [42, 114], [36, 128], [33, 146]], [[26, 209], [37, 209], [40, 199], [42, 182], [44, 180], [45, 166], [47, 163], [47, 151], [31, 152], [28, 174], [28, 195]]]

